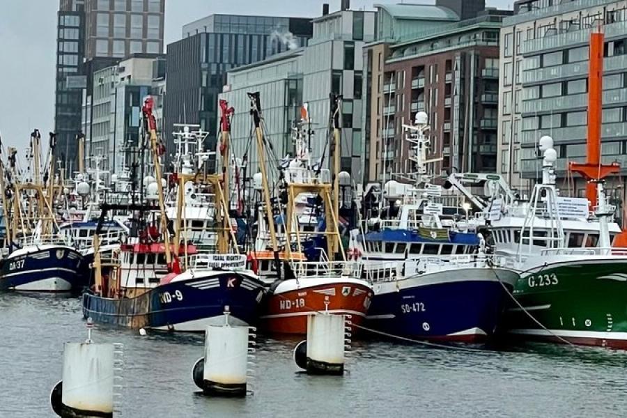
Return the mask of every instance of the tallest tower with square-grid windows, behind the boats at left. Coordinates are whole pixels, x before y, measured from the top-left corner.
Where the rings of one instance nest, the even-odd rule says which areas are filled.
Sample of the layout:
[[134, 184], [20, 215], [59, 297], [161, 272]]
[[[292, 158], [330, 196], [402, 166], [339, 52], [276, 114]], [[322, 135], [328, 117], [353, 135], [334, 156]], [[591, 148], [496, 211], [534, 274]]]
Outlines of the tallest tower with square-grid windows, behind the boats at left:
[[[55, 157], [77, 167], [76, 137], [84, 91], [93, 70], [130, 54], [159, 54], [163, 50], [165, 0], [61, 0], [57, 42]], [[87, 63], [84, 61], [88, 60]], [[94, 63], [92, 61], [102, 61]], [[89, 132], [86, 141], [90, 141]]]

